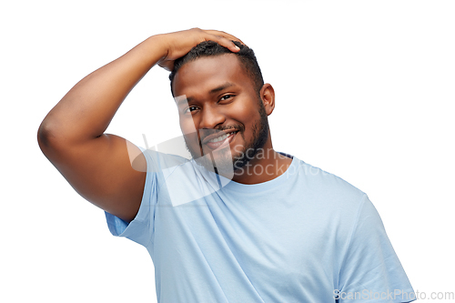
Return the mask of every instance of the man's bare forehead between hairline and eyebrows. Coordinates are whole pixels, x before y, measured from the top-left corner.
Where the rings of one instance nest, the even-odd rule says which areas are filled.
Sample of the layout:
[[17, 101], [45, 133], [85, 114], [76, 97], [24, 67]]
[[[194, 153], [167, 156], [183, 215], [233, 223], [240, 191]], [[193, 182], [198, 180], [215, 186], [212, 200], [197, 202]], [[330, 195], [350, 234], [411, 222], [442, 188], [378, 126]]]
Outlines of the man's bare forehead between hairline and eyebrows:
[[227, 82], [235, 86], [252, 87], [252, 81], [238, 56], [204, 56], [178, 69], [172, 89], [174, 96], [195, 95], [208, 92]]

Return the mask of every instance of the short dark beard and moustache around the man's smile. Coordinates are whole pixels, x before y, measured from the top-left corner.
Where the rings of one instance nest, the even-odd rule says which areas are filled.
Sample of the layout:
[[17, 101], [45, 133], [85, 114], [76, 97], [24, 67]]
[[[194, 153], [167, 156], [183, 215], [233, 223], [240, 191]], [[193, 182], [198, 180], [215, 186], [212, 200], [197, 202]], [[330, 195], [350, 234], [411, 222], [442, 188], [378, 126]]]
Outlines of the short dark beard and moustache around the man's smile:
[[[243, 141], [245, 142], [245, 146], [243, 146], [241, 150], [235, 150], [235, 153], [237, 154], [232, 154], [229, 146], [206, 153], [202, 147], [201, 141], [198, 138], [197, 142], [199, 148], [198, 150], [194, 150], [188, 144], [187, 136], [184, 136], [187, 150], [196, 163], [201, 167], [205, 167], [209, 171], [225, 177], [232, 177], [233, 173], [238, 171], [240, 168], [245, 167], [248, 162], [258, 154], [258, 151], [268, 140], [268, 119], [266, 108], [262, 102], [259, 102], [259, 118], [251, 127], [252, 136], [249, 141], [245, 139], [245, 126], [243, 125], [225, 126], [210, 130], [199, 130], [198, 132], [199, 135], [202, 132], [205, 133], [203, 134], [204, 136], [207, 136], [220, 131], [227, 131], [229, 129], [237, 129], [238, 132], [234, 136], [242, 136]], [[207, 134], [206, 132], [210, 133]]]

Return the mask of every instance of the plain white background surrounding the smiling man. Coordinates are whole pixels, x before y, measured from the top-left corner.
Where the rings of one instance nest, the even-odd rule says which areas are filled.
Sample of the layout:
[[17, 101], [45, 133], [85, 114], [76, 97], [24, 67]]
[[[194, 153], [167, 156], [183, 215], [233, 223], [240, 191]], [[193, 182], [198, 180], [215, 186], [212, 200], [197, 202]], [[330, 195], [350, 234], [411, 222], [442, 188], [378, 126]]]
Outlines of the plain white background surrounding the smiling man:
[[[455, 292], [453, 1], [10, 1], [0, 14], [0, 301], [156, 302], [147, 250], [110, 236], [36, 130], [82, 77], [196, 26], [256, 51], [275, 148], [369, 195], [415, 290]], [[153, 68], [107, 132], [178, 136], [167, 74]]]

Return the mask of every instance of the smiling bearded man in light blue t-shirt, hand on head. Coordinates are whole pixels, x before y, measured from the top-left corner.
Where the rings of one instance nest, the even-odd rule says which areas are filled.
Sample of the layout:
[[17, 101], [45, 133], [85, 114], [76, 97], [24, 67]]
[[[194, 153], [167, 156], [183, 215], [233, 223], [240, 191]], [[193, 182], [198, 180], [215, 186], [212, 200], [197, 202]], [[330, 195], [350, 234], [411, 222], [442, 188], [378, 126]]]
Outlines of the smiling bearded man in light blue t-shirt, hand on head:
[[[172, 70], [193, 160], [104, 134], [157, 64]], [[45, 117], [38, 141], [106, 211], [114, 235], [147, 247], [158, 302], [411, 301], [368, 197], [273, 149], [274, 106], [248, 46], [192, 29], [154, 35], [86, 76]]]

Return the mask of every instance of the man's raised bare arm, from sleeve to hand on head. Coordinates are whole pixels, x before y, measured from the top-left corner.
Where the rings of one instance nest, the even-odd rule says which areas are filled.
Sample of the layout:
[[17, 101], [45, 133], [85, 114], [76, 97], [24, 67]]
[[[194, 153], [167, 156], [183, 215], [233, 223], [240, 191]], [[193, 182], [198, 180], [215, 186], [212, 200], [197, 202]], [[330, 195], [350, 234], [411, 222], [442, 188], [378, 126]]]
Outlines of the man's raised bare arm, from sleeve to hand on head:
[[45, 116], [38, 144], [72, 187], [88, 201], [127, 222], [136, 217], [146, 173], [139, 155], [131, 167], [127, 141], [104, 134], [116, 110], [137, 82], [155, 65], [172, 69], [174, 60], [202, 41], [213, 40], [238, 51], [232, 35], [191, 29], [154, 35], [124, 56], [97, 69], [76, 84]]

